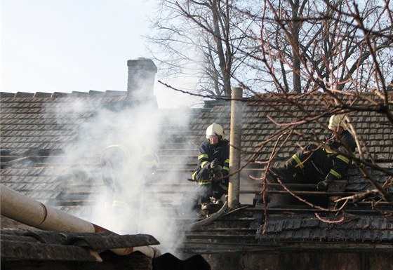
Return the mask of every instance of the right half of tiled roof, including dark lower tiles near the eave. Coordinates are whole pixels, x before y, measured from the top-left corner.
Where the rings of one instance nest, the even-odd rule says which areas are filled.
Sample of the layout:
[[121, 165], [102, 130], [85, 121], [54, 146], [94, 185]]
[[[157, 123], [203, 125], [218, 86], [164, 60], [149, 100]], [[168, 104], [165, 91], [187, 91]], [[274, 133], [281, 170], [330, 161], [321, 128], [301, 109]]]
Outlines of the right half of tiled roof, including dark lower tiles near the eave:
[[[389, 110], [388, 114], [386, 111], [378, 109], [380, 104], [383, 104], [383, 100], [378, 100], [373, 93], [363, 93], [358, 97], [343, 93], [339, 97], [343, 102], [342, 107], [347, 106], [354, 109], [349, 114], [349, 118], [358, 137], [361, 138], [362, 151], [368, 154], [366, 155], [366, 161], [372, 160], [382, 170], [387, 170], [392, 174], [393, 123], [392, 119], [389, 119], [389, 114], [393, 112], [392, 95], [389, 95], [389, 103], [385, 107]], [[334, 108], [334, 102], [330, 96], [324, 93], [314, 95], [265, 94], [243, 102], [242, 163], [250, 162], [246, 168], [253, 166], [258, 168], [260, 181], [262, 181], [263, 166], [272, 156], [279, 135], [284, 135], [280, 142], [284, 142], [284, 138], [286, 142], [279, 144], [280, 148], [277, 151], [277, 156], [274, 157], [274, 161], [284, 161], [310, 140], [321, 141], [329, 135], [326, 132], [326, 123], [328, 123], [330, 114], [326, 112]], [[211, 109], [211, 112], [200, 114], [199, 119], [194, 121], [193, 128], [199, 130], [199, 136], [202, 138], [204, 128], [213, 121], [222, 124], [225, 130], [229, 130], [230, 107], [228, 105], [215, 106]], [[371, 166], [366, 168], [368, 173], [372, 175], [373, 180], [381, 186], [389, 183], [387, 182], [389, 175], [386, 171], [375, 170]], [[251, 175], [250, 170], [247, 173]], [[255, 175], [257, 174], [255, 173]], [[390, 176], [391, 180], [392, 177]], [[340, 187], [341, 184], [343, 184], [343, 188]], [[354, 192], [368, 191], [375, 187], [358, 168], [353, 166], [349, 170], [348, 180], [337, 183], [336, 188], [335, 193], [328, 193], [332, 200], [342, 196], [351, 196]], [[262, 182], [260, 182], [260, 191], [262, 191]], [[387, 187], [387, 191], [392, 193], [392, 186]], [[314, 191], [309, 193], [312, 192]], [[237, 229], [238, 231], [247, 231], [248, 235], [253, 234], [252, 228], [258, 227], [258, 231], [255, 231], [255, 240], [258, 241], [260, 246], [265, 246], [265, 251], [296, 251], [301, 246], [304, 250], [318, 252], [320, 249], [317, 247], [321, 243], [331, 243], [331, 249], [342, 251], [345, 250], [345, 245], [353, 245], [348, 250], [359, 251], [370, 250], [369, 244], [378, 242], [382, 243], [383, 248], [392, 252], [393, 247], [389, 244], [393, 240], [393, 236], [390, 234], [392, 223], [389, 215], [392, 213], [393, 205], [392, 203], [377, 203], [378, 198], [376, 201], [373, 201], [373, 199], [370, 201], [364, 203], [359, 199], [356, 204], [349, 203], [344, 209], [344, 214], [339, 211], [338, 216], [333, 218], [319, 208], [310, 209], [300, 205], [285, 205], [281, 208], [268, 208], [267, 210], [264, 209], [263, 205], [259, 205], [260, 212], [258, 213], [257, 203], [255, 208], [241, 210], [244, 213], [243, 218], [251, 218], [257, 224], [254, 222], [250, 224], [239, 222]], [[375, 203], [375, 205], [372, 203]], [[332, 207], [333, 204], [332, 202]], [[387, 216], [384, 216], [384, 214]], [[202, 241], [202, 239], [210, 237], [218, 243], [213, 245], [206, 241], [206, 246], [221, 248], [221, 252], [227, 252], [229, 248], [226, 248], [224, 244], [220, 245], [220, 243], [225, 242], [225, 239], [229, 239], [229, 237], [236, 237], [229, 235], [231, 228], [227, 227], [226, 220], [230, 218], [226, 217], [218, 220], [215, 225], [208, 227], [210, 233], [201, 233], [200, 238], [192, 234], [192, 239], [198, 238], [199, 240], [194, 241]], [[241, 247], [246, 250], [258, 249], [251, 244], [252, 241], [244, 243], [245, 239], [248, 238], [243, 239], [243, 241], [239, 240], [237, 242], [238, 245], [232, 245], [231, 248], [234, 250], [241, 249]], [[362, 244], [358, 245], [360, 242]], [[244, 244], [239, 246], [239, 243]], [[192, 247], [194, 247], [192, 241], [185, 244], [185, 250], [189, 248], [192, 250]], [[375, 250], [371, 251], [378, 252], [377, 250], [380, 249], [376, 247], [375, 245]], [[326, 247], [324, 246], [324, 248]], [[213, 251], [212, 248], [206, 248], [204, 251], [219, 252], [217, 250]]]

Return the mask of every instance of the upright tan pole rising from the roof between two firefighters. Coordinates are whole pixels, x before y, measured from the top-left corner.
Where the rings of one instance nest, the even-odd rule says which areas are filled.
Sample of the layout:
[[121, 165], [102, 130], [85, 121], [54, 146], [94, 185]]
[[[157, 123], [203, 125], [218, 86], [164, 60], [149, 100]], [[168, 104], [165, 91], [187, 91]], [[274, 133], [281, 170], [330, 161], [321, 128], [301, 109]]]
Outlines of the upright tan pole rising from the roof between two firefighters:
[[[231, 176], [229, 176], [228, 187], [228, 206], [229, 209], [238, 208], [240, 205], [239, 190], [240, 190], [240, 148], [241, 148], [241, 114], [243, 89], [239, 87], [232, 88], [232, 102], [231, 102], [231, 126], [230, 138], [231, 144], [229, 148], [229, 169]], [[237, 173], [235, 173], [237, 172]]]

